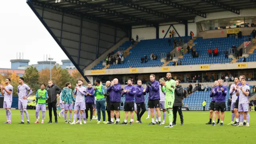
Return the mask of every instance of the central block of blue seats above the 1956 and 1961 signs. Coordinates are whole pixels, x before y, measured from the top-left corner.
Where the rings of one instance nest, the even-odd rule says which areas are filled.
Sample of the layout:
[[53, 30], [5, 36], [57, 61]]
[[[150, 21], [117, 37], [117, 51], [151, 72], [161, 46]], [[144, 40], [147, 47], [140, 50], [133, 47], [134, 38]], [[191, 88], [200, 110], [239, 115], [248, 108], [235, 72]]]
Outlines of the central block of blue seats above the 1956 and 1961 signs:
[[[182, 37], [188, 40], [188, 37]], [[176, 38], [179, 41], [180, 38]], [[157, 67], [164, 63], [160, 62], [161, 53], [172, 51], [174, 38], [171, 38], [171, 44], [168, 44], [168, 38], [141, 40], [129, 52], [130, 54], [124, 58], [124, 64], [110, 65], [108, 68], [129, 68], [129, 67]], [[154, 53], [157, 60], [150, 60], [150, 54]], [[147, 62], [141, 63], [140, 59], [144, 54], [147, 56]]]

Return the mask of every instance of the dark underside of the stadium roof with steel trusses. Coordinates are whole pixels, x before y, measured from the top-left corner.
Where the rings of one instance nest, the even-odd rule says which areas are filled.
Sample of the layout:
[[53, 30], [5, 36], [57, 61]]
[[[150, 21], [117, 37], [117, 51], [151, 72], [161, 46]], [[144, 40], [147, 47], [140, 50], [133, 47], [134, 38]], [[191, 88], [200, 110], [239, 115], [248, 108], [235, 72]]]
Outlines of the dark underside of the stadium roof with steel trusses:
[[256, 0], [33, 0], [90, 19], [124, 25], [152, 25], [162, 22], [184, 23], [207, 13], [255, 8]]

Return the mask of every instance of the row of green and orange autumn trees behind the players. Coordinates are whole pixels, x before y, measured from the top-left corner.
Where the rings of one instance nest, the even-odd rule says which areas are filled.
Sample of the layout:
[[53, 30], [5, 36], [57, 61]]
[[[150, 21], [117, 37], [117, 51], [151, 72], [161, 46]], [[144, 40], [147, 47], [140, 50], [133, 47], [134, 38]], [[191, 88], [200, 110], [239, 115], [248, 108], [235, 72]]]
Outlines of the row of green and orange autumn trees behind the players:
[[[0, 82], [4, 84], [6, 78], [11, 79], [11, 85], [13, 86], [13, 96], [18, 96], [18, 85], [20, 76], [16, 74], [16, 72], [8, 72], [7, 74], [0, 74]], [[46, 84], [48, 86], [48, 80], [50, 80], [50, 69], [45, 68], [42, 71], [38, 72], [36, 67], [29, 66], [26, 68], [25, 73], [23, 75], [24, 83], [27, 84], [32, 90], [33, 94], [36, 94], [36, 91], [40, 88], [41, 84]], [[68, 72], [66, 69], [62, 69], [61, 67], [54, 66], [52, 68], [52, 81], [54, 84], [62, 88], [65, 86], [66, 82], [71, 82], [72, 89], [75, 88], [75, 84], [77, 81], [81, 79], [86, 84], [84, 77], [78, 72], [78, 70], [74, 70], [72, 74]]]

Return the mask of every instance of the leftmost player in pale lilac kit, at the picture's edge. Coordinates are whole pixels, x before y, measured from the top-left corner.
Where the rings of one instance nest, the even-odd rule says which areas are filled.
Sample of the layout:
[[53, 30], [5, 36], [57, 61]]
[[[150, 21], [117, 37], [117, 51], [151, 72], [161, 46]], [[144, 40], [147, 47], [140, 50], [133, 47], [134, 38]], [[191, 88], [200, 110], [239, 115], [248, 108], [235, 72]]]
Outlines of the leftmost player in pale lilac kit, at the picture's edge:
[[11, 124], [12, 119], [12, 113], [11, 113], [11, 106], [12, 106], [12, 90], [13, 87], [10, 84], [11, 80], [10, 78], [6, 78], [4, 87], [2, 84], [0, 84], [1, 88], [1, 94], [4, 95], [4, 108], [6, 112], [6, 119], [7, 121], [4, 122], [5, 124]]

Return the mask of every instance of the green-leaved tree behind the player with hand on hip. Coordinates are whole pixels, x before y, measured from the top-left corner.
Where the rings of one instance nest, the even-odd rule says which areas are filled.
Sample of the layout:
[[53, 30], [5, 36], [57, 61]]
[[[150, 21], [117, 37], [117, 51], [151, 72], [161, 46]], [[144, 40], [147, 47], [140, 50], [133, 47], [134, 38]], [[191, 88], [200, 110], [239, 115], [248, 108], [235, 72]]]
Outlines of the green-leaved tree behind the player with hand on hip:
[[30, 88], [33, 90], [33, 93], [35, 93], [36, 90], [40, 88], [38, 83], [39, 72], [36, 69], [36, 67], [29, 66], [28, 68], [26, 68], [23, 77], [24, 77], [25, 83], [28, 84]]

